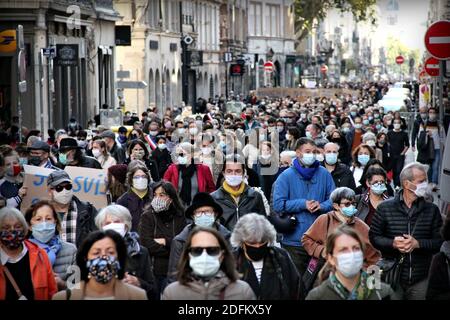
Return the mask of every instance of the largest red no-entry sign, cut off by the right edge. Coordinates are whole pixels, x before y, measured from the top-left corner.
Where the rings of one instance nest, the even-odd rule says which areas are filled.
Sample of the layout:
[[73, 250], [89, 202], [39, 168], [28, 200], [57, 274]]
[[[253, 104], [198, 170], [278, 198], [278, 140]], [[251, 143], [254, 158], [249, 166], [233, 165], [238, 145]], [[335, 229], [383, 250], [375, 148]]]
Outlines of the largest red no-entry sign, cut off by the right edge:
[[450, 58], [450, 21], [437, 21], [428, 27], [425, 33], [425, 47], [436, 59]]

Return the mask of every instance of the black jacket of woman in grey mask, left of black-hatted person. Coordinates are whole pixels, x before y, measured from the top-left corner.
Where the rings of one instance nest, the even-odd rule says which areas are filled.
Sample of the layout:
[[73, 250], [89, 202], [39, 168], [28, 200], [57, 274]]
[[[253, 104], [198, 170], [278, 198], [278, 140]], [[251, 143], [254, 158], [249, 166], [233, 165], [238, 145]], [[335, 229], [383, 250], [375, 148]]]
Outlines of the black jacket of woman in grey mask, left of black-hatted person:
[[[153, 260], [155, 275], [165, 276], [169, 267], [169, 255], [172, 239], [186, 226], [183, 212], [174, 210], [155, 213], [152, 208], [146, 210], [139, 223], [139, 235]], [[164, 238], [166, 244], [157, 243], [154, 239]]]

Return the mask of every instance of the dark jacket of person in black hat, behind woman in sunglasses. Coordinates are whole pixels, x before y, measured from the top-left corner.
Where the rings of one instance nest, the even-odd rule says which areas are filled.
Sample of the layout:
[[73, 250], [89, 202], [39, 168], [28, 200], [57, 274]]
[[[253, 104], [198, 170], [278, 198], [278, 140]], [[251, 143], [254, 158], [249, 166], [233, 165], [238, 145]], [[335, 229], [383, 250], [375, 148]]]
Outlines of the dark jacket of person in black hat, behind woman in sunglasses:
[[[187, 241], [189, 233], [195, 227], [193, 223], [188, 224], [184, 227], [183, 231], [181, 231], [175, 238], [172, 240], [172, 245], [170, 247], [170, 258], [169, 258], [169, 270], [167, 272], [167, 281], [168, 283], [172, 283], [177, 281], [177, 267], [178, 261], [180, 260], [181, 253], [183, 252], [184, 244]], [[219, 233], [224, 237], [224, 239], [229, 243], [231, 232], [222, 226], [221, 224], [215, 224], [215, 228], [219, 231]]]

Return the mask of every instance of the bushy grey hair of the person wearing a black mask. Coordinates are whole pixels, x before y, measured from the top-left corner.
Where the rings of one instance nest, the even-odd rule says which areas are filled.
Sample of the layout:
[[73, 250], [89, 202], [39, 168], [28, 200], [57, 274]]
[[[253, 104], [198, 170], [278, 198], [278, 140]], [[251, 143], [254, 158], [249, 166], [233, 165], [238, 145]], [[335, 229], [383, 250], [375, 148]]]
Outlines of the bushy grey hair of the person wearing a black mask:
[[230, 243], [240, 247], [244, 242], [263, 243], [269, 245], [276, 240], [277, 232], [274, 226], [263, 215], [249, 213], [242, 216], [231, 234]]

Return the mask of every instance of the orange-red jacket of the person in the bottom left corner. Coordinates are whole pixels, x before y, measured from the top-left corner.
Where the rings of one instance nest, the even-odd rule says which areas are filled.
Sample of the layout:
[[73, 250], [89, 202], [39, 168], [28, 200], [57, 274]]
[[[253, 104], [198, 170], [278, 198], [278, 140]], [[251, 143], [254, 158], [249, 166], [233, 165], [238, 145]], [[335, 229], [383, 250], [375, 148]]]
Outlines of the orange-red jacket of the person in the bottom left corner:
[[[35, 300], [51, 300], [52, 296], [58, 291], [53, 275], [52, 266], [48, 260], [45, 250], [39, 248], [36, 244], [24, 241], [30, 259], [31, 281], [34, 288]], [[6, 275], [3, 266], [0, 265], [0, 300], [6, 297]]]

